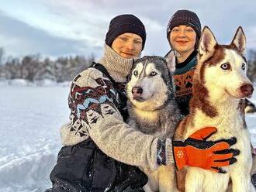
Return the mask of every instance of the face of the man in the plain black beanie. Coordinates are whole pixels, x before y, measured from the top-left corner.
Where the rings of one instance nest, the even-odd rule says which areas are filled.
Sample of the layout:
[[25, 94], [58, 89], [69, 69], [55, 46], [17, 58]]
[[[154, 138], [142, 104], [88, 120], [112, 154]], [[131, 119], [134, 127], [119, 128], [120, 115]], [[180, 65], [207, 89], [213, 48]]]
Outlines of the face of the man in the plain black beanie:
[[111, 48], [126, 59], [139, 57], [142, 50], [142, 38], [134, 33], [123, 33], [112, 42]]

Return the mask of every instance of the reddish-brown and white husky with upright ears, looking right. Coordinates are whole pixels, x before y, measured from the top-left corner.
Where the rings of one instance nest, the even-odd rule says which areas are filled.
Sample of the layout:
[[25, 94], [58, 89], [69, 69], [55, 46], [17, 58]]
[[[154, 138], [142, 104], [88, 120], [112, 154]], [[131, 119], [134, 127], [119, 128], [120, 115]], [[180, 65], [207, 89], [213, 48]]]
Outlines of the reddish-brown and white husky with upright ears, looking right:
[[217, 132], [209, 140], [236, 137], [237, 143], [232, 147], [239, 149], [240, 155], [236, 156], [236, 163], [223, 168], [225, 174], [186, 167], [187, 192], [226, 191], [229, 180], [234, 192], [255, 191], [250, 177], [251, 139], [244, 120], [244, 98], [253, 91], [243, 56], [245, 43], [241, 27], [228, 46], [219, 45], [208, 27], [202, 31], [190, 113], [178, 125], [175, 139], [187, 139], [203, 127], [215, 126]]

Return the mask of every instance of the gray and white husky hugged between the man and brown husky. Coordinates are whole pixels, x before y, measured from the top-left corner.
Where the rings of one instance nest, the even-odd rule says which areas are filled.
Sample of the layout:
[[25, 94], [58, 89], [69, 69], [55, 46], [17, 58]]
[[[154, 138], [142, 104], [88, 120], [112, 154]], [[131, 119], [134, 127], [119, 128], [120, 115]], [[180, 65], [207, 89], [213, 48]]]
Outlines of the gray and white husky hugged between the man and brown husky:
[[[126, 85], [128, 123], [134, 129], [160, 139], [175, 134], [182, 115], [175, 102], [174, 71], [175, 51], [164, 58], [147, 56], [135, 61]], [[140, 169], [149, 178], [145, 191], [178, 191], [175, 165]]]

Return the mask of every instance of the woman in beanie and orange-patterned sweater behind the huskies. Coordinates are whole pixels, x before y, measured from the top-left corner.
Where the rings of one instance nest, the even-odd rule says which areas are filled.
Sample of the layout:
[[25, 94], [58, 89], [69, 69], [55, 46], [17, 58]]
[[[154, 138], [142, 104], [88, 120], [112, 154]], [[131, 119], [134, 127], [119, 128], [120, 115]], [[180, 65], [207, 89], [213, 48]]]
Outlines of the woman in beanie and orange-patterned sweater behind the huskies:
[[[201, 23], [195, 12], [178, 10], [168, 22], [167, 38], [171, 49], [177, 50], [175, 85], [176, 101], [183, 115], [189, 114], [189, 101], [192, 98], [192, 77], [197, 63]], [[256, 187], [256, 156], [253, 150], [252, 183]]]

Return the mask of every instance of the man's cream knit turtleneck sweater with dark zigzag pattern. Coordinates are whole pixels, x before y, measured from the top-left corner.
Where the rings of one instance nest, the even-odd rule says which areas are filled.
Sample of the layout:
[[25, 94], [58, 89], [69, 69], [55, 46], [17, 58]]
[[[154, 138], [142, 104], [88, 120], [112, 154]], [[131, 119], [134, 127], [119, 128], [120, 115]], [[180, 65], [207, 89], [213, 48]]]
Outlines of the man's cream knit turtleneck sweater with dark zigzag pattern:
[[[126, 83], [126, 76], [133, 66], [132, 59], [120, 57], [107, 45], [99, 63], [119, 83]], [[117, 110], [119, 95], [99, 70], [91, 67], [74, 78], [68, 102], [70, 122], [61, 128], [64, 146], [75, 145], [91, 137], [106, 155], [123, 163], [151, 170], [161, 164], [174, 163], [171, 139], [161, 141], [123, 122]]]

